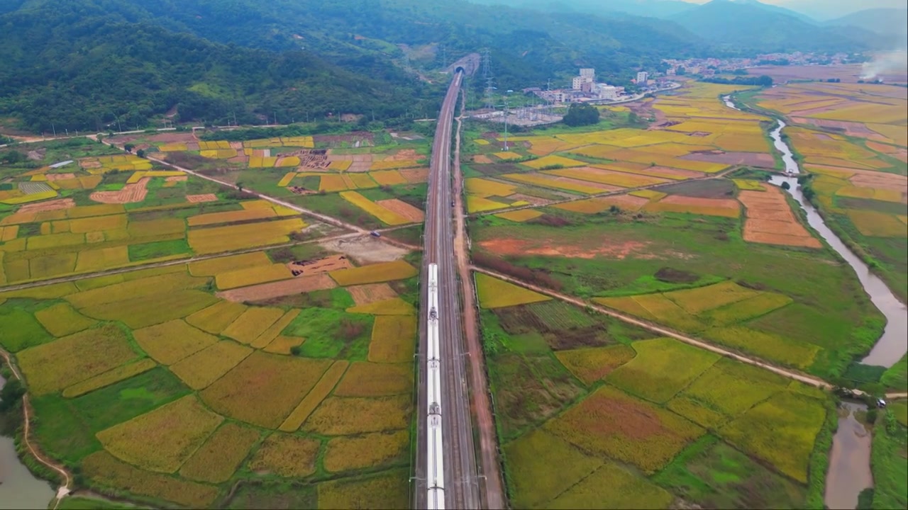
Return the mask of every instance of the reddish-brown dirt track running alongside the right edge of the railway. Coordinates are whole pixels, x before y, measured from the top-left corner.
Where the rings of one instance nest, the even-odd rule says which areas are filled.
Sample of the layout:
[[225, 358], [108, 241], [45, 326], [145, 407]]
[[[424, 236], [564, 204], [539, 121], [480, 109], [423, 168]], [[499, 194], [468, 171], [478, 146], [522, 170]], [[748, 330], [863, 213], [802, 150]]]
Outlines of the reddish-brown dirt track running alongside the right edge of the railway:
[[467, 339], [467, 356], [469, 357], [470, 392], [473, 397], [473, 412], [479, 428], [479, 467], [485, 490], [485, 508], [498, 510], [506, 508], [504, 484], [501, 478], [501, 465], [498, 463], [498, 434], [495, 428], [495, 417], [492, 412], [489, 396], [489, 381], [486, 377], [485, 359], [482, 342], [479, 339], [479, 321], [477, 320], [476, 294], [473, 279], [469, 271], [469, 253], [467, 250], [468, 234], [466, 229], [463, 203], [463, 174], [460, 172], [460, 132], [466, 97], [463, 98], [461, 115], [457, 118], [457, 134], [454, 142], [454, 254], [457, 260], [460, 278], [460, 294], [463, 296], [461, 317], [464, 335]]

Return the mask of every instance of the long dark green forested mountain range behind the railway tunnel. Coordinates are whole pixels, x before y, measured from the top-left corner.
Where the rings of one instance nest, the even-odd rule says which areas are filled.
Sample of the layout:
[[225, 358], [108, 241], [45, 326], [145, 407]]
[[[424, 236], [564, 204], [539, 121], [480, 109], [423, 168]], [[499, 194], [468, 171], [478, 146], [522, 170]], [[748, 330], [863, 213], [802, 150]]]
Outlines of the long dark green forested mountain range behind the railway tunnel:
[[[576, 6], [593, 5], [584, 2]], [[763, 44], [767, 34], [779, 46], [823, 45], [814, 35], [825, 29], [792, 37], [789, 30], [803, 28], [789, 23], [794, 18], [780, 24], [774, 13], [761, 21], [740, 11], [724, 19], [702, 12], [704, 19], [678, 15], [686, 30], [620, 13], [466, 0], [4, 0], [0, 114], [33, 131], [95, 130], [117, 120], [141, 127], [163, 113], [214, 123], [234, 114], [241, 123], [264, 123], [275, 113], [281, 123], [328, 113], [389, 121], [437, 108], [443, 84], [418, 72], [482, 48], [490, 50], [498, 87], [517, 90], [567, 79], [578, 67], [627, 84], [638, 69], [661, 69], [664, 58], [772, 51]], [[762, 28], [742, 28], [755, 19]], [[701, 34], [733, 44], [723, 48]], [[484, 83], [469, 84], [479, 90]]]

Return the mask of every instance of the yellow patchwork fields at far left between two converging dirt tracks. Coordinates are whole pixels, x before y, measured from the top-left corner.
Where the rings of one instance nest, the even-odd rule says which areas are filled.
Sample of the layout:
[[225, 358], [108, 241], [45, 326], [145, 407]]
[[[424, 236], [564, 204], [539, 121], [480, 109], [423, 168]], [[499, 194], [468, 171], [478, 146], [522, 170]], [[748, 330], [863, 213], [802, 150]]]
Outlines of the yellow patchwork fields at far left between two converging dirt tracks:
[[[105, 152], [87, 143], [28, 144], [21, 150], [44, 160], [0, 168], [11, 188], [0, 199], [21, 195], [0, 203], [0, 285], [285, 244], [313, 225], [326, 231], [298, 211], [183, 172], [105, 166], [136, 156], [80, 157]], [[50, 157], [77, 159], [39, 166]]]

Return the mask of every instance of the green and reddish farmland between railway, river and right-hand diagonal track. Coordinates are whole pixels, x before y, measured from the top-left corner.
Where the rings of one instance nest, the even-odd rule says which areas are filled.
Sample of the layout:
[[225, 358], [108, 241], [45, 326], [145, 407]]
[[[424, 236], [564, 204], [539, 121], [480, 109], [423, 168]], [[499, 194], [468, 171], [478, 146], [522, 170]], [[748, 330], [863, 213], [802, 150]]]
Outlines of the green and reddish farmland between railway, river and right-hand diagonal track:
[[[879, 338], [883, 316], [854, 272], [786, 202], [775, 237], [752, 236], [752, 211], [764, 206], [745, 209], [735, 194], [769, 190], [716, 180], [656, 191], [522, 210], [542, 213], [528, 221], [480, 216], [469, 224], [474, 262], [823, 378], [843, 375]], [[782, 235], [783, 220], [805, 237]], [[492, 309], [528, 299], [487, 293]]]

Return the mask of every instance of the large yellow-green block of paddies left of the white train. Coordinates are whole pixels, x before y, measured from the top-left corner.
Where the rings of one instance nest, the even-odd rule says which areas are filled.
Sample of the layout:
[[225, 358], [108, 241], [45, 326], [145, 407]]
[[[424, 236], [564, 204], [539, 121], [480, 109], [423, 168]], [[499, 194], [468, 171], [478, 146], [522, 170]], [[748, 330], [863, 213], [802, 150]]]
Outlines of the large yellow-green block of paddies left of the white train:
[[152, 507], [409, 505], [419, 259], [309, 250], [0, 288], [32, 441]]

